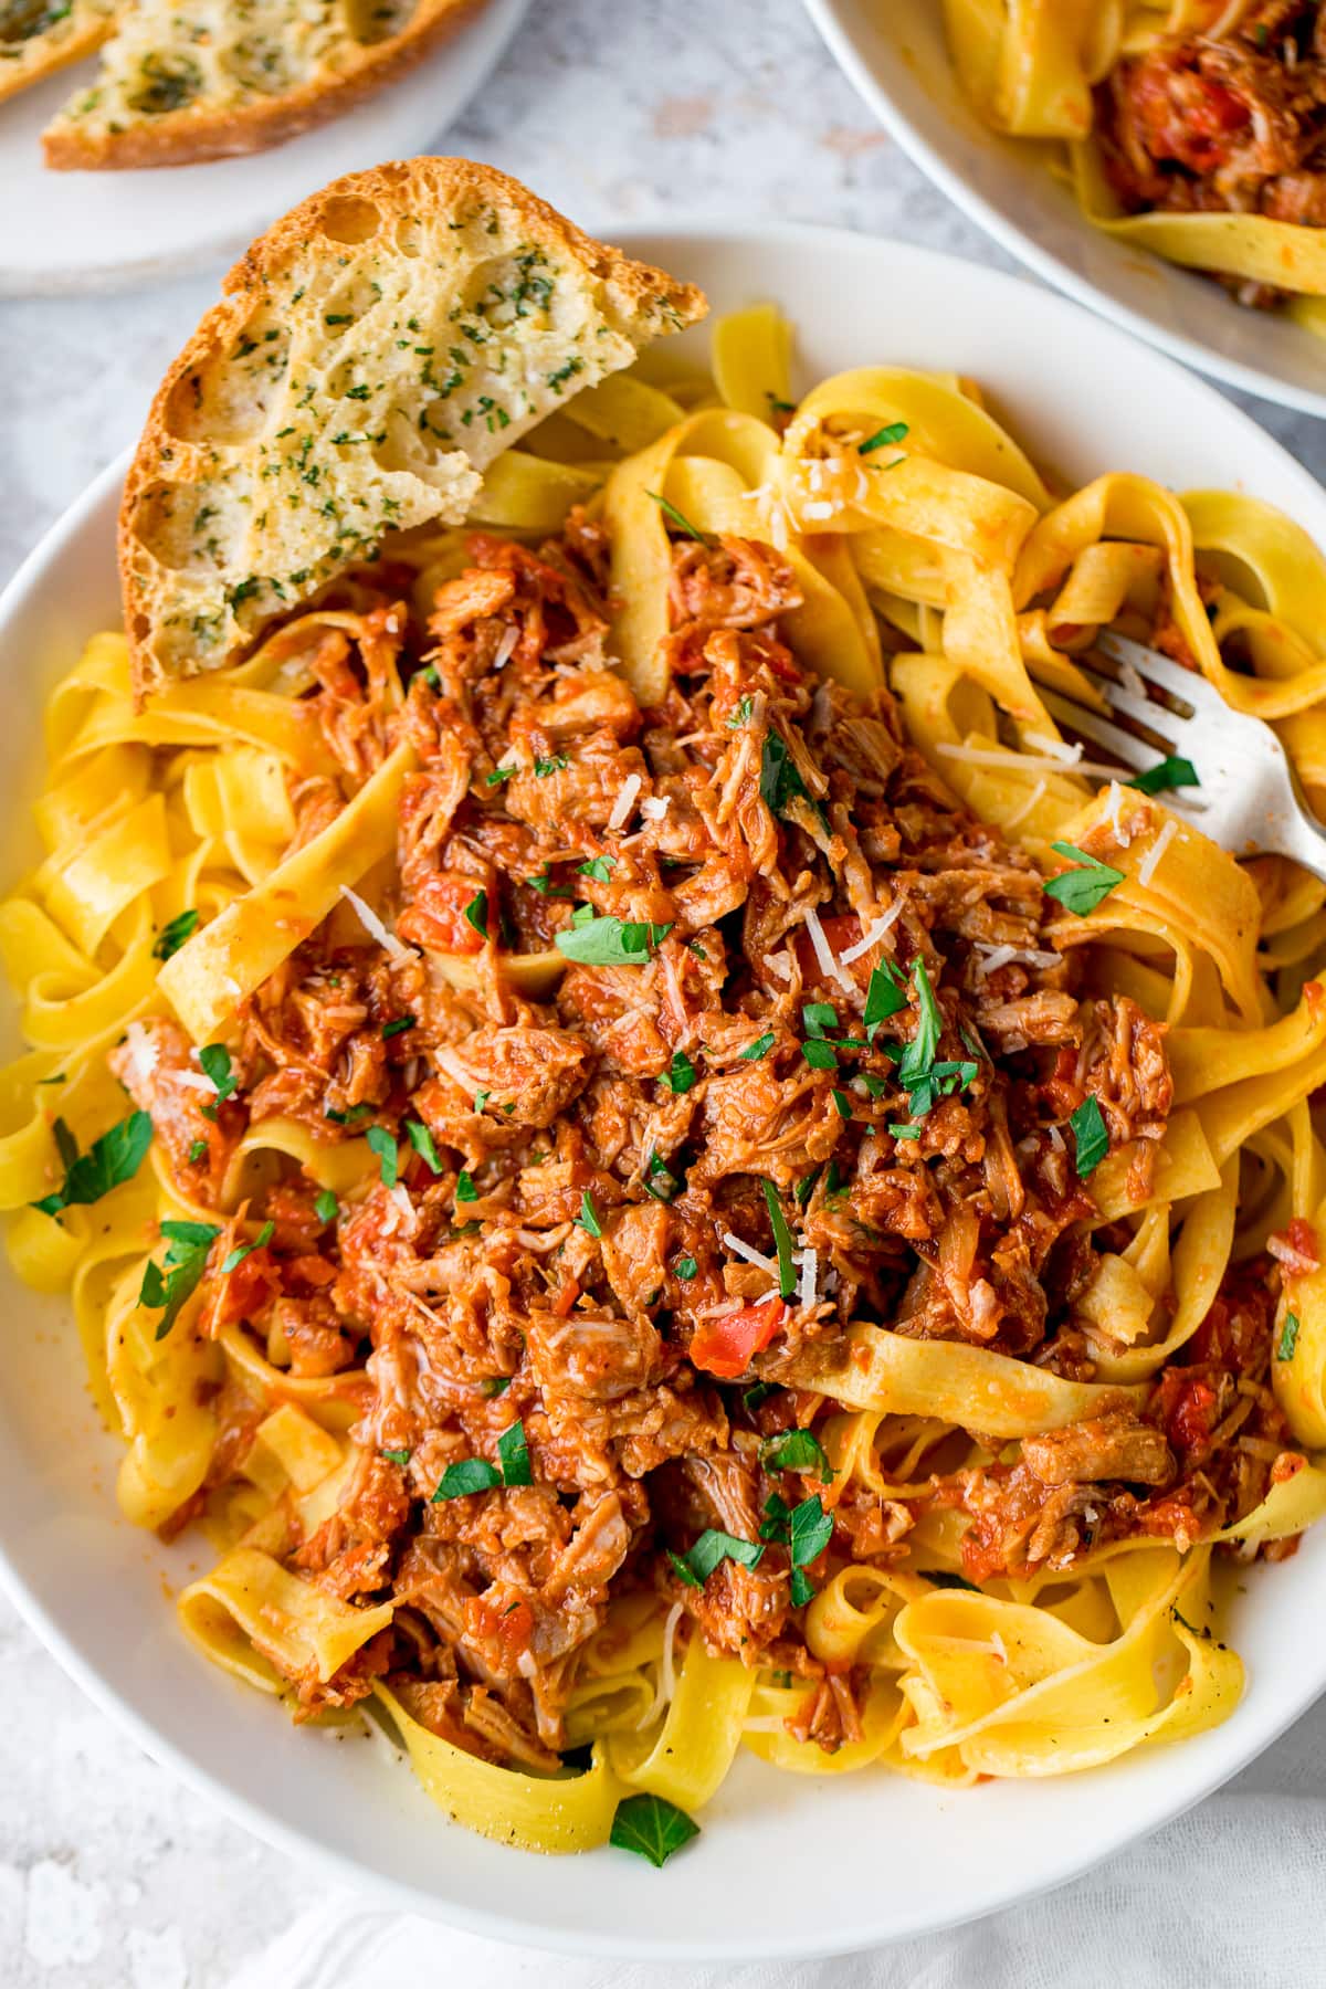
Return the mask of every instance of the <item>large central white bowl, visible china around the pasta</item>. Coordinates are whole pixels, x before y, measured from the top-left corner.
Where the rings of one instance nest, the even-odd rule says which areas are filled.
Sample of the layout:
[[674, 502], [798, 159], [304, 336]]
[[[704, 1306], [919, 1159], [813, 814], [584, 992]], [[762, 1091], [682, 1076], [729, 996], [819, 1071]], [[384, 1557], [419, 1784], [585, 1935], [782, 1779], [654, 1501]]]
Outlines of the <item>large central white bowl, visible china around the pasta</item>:
[[[797, 376], [871, 360], [976, 376], [1034, 455], [1085, 481], [1139, 469], [1177, 487], [1237, 483], [1326, 543], [1326, 495], [1213, 388], [1058, 296], [901, 243], [817, 229], [632, 235], [702, 282], [716, 310], [775, 298], [797, 320]], [[688, 334], [696, 350], [704, 334]], [[12, 722], [0, 792], [38, 784], [40, 712], [80, 642], [115, 621], [123, 461], [74, 505], [0, 601]], [[8, 815], [14, 821], [14, 815]], [[22, 833], [14, 823], [14, 833]], [[16, 851], [20, 855], [20, 851]], [[779, 1776], [744, 1758], [704, 1834], [664, 1872], [614, 1850], [553, 1860], [469, 1836], [406, 1766], [292, 1728], [209, 1667], [163, 1581], [209, 1559], [117, 1518], [117, 1444], [99, 1432], [68, 1307], [0, 1269], [0, 1573], [32, 1627], [163, 1764], [280, 1850], [396, 1903], [489, 1935], [654, 1959], [859, 1949], [1056, 1886], [1205, 1796], [1326, 1687], [1326, 1528], [1254, 1567], [1231, 1639], [1248, 1667], [1233, 1718], [1173, 1748], [1044, 1782], [938, 1792], [885, 1772]]]

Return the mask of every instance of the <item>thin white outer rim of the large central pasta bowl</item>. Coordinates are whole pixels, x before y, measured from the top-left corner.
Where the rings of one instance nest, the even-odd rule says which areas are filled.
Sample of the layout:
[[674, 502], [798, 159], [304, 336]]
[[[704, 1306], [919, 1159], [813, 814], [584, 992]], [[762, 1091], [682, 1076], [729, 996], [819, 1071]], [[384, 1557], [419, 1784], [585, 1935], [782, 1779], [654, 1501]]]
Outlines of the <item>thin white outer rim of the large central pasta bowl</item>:
[[[592, 219], [588, 227], [594, 227]], [[674, 261], [684, 259], [688, 245], [694, 243], [728, 243], [734, 249], [755, 247], [767, 253], [777, 253], [787, 247], [831, 247], [839, 253], [871, 261], [877, 257], [916, 259], [918, 263], [930, 265], [936, 274], [956, 271], [962, 278], [974, 272], [980, 284], [994, 290], [1014, 290], [1022, 296], [1030, 294], [1038, 300], [1040, 308], [1048, 308], [1056, 314], [1068, 314], [1068, 318], [1081, 316], [1097, 334], [1121, 340], [1123, 344], [1135, 344], [1135, 340], [1131, 340], [1119, 324], [1101, 320], [1099, 314], [1087, 312], [1072, 298], [1038, 290], [1036, 284], [1028, 282], [1022, 274], [992, 269], [990, 265], [974, 265], [946, 251], [928, 249], [916, 243], [901, 243], [889, 237], [875, 237], [855, 229], [823, 227], [815, 223], [738, 221], [722, 217], [690, 219], [682, 215], [658, 217], [652, 225], [644, 223], [628, 229], [608, 225], [600, 233], [620, 241], [628, 253], [658, 261], [666, 261], [668, 257]], [[1304, 465], [1298, 463], [1296, 457], [1268, 430], [1260, 428], [1260, 424], [1254, 422], [1246, 410], [1231, 404], [1209, 380], [1195, 378], [1177, 360], [1157, 352], [1151, 342], [1145, 344], [1147, 366], [1173, 372], [1185, 382], [1189, 392], [1197, 392], [1201, 398], [1207, 398], [1221, 410], [1223, 418], [1229, 418], [1237, 428], [1244, 428], [1254, 434], [1258, 438], [1258, 446], [1266, 446], [1280, 459], [1286, 479], [1298, 483], [1304, 493], [1310, 493], [1310, 501], [1320, 511], [1316, 525], [1326, 541], [1326, 493], [1322, 491], [1322, 485], [1318, 485], [1316, 479], [1304, 469]], [[10, 623], [20, 613], [34, 607], [34, 591], [40, 593], [44, 585], [50, 585], [48, 569], [54, 567], [54, 563], [68, 551], [70, 543], [82, 535], [93, 513], [99, 507], [113, 503], [113, 493], [123, 481], [131, 455], [131, 448], [121, 452], [83, 487], [83, 491], [30, 549], [10, 581], [4, 585], [0, 591], [0, 648], [4, 648], [8, 640]], [[565, 1925], [539, 1919], [537, 1907], [523, 1911], [517, 1903], [511, 1909], [495, 1911], [483, 1905], [471, 1905], [463, 1898], [439, 1898], [437, 1894], [425, 1892], [408, 1880], [394, 1880], [388, 1874], [368, 1870], [352, 1856], [318, 1842], [296, 1826], [278, 1820], [260, 1804], [258, 1798], [227, 1784], [217, 1772], [185, 1752], [185, 1748], [165, 1738], [147, 1715], [143, 1715], [123, 1691], [111, 1685], [97, 1671], [97, 1667], [76, 1649], [72, 1637], [66, 1635], [56, 1615], [28, 1587], [24, 1575], [10, 1559], [2, 1530], [0, 1589], [4, 1589], [28, 1629], [56, 1659], [62, 1671], [119, 1726], [121, 1732], [127, 1732], [127, 1736], [141, 1746], [151, 1760], [155, 1760], [169, 1774], [175, 1774], [195, 1794], [215, 1804], [223, 1816], [245, 1828], [250, 1836], [320, 1872], [328, 1880], [356, 1890], [368, 1901], [380, 1901], [384, 1907], [417, 1913], [425, 1919], [453, 1925], [467, 1933], [477, 1933], [509, 1945], [537, 1945], [553, 1953], [594, 1959], [672, 1963], [736, 1963], [753, 1959], [793, 1961], [809, 1957], [827, 1959], [861, 1951], [865, 1947], [920, 1939], [930, 1933], [942, 1933], [966, 1925], [1006, 1907], [1028, 1905], [1034, 1899], [1072, 1884], [1085, 1872], [1095, 1870], [1119, 1852], [1143, 1844], [1157, 1830], [1165, 1828], [1165, 1824], [1215, 1794], [1221, 1786], [1225, 1786], [1225, 1782], [1231, 1780], [1231, 1776], [1239, 1774], [1252, 1760], [1256, 1760], [1282, 1732], [1286, 1732], [1290, 1724], [1294, 1724], [1294, 1720], [1302, 1718], [1304, 1713], [1308, 1713], [1310, 1707], [1326, 1695], [1324, 1653], [1320, 1677], [1316, 1677], [1302, 1693], [1268, 1701], [1264, 1707], [1244, 1701], [1241, 1709], [1243, 1728], [1237, 1728], [1235, 1720], [1231, 1720], [1231, 1726], [1225, 1728], [1229, 1740], [1225, 1740], [1223, 1752], [1219, 1752], [1215, 1760], [1203, 1760], [1197, 1752], [1189, 1752], [1189, 1748], [1197, 1746], [1201, 1736], [1195, 1736], [1195, 1740], [1189, 1742], [1189, 1748], [1177, 1748], [1173, 1758], [1183, 1760], [1187, 1756], [1193, 1760], [1193, 1766], [1175, 1774], [1177, 1792], [1173, 1798], [1165, 1798], [1151, 1806], [1145, 1814], [1145, 1822], [1137, 1824], [1127, 1814], [1127, 1806], [1119, 1806], [1121, 1820], [1115, 1826], [1105, 1830], [1103, 1836], [1093, 1838], [1087, 1850], [1068, 1850], [1060, 1862], [1038, 1876], [1030, 1886], [1016, 1882], [986, 1882], [982, 1890], [980, 1878], [968, 1872], [964, 1874], [964, 1898], [952, 1911], [938, 1915], [934, 1911], [924, 1911], [916, 1919], [899, 1921], [897, 1907], [893, 1907], [887, 1925], [881, 1925], [879, 1919], [883, 1909], [875, 1909], [877, 1917], [871, 1917], [869, 1907], [857, 1907], [855, 1917], [845, 1919], [843, 1901], [835, 1901], [829, 1927], [817, 1935], [813, 1943], [799, 1935], [779, 1937], [775, 1925], [769, 1925], [767, 1935], [757, 1939], [751, 1939], [751, 1935], [744, 1931], [732, 1939], [688, 1939], [686, 1935], [680, 1935], [664, 1941], [656, 1935], [632, 1935], [632, 1931], [624, 1925], [580, 1927], [573, 1933]], [[1109, 1774], [1111, 1770], [1105, 1768], [1097, 1772]], [[445, 1838], [439, 1842], [445, 1842]], [[519, 1896], [519, 1866], [515, 1864], [511, 1894], [513, 1898]]]

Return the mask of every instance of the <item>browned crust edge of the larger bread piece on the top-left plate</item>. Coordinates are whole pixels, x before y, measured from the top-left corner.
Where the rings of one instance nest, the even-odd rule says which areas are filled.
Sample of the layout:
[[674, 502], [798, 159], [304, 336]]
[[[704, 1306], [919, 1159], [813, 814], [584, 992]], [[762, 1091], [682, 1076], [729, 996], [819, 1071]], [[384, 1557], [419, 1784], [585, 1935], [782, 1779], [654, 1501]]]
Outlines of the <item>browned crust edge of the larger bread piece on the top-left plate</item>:
[[[342, 117], [386, 84], [414, 70], [465, 26], [487, 0], [419, 0], [404, 34], [362, 48], [334, 76], [316, 76], [296, 90], [247, 103], [211, 109], [205, 101], [167, 111], [119, 131], [89, 131], [56, 123], [42, 133], [46, 165], [58, 173], [107, 173], [155, 165], [197, 165], [268, 151], [304, 131]], [[101, 46], [105, 34], [91, 46]], [[72, 58], [70, 58], [72, 60]]]

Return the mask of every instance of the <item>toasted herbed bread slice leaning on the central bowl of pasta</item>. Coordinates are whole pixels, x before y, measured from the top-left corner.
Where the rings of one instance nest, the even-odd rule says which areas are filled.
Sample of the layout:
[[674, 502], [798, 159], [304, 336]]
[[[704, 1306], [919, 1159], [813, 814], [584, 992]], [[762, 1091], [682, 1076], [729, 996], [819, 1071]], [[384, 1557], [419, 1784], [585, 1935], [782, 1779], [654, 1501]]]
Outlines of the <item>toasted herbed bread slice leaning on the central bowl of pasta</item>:
[[384, 533], [459, 525], [501, 450], [706, 310], [465, 159], [334, 181], [225, 288], [125, 481], [139, 694], [233, 662]]

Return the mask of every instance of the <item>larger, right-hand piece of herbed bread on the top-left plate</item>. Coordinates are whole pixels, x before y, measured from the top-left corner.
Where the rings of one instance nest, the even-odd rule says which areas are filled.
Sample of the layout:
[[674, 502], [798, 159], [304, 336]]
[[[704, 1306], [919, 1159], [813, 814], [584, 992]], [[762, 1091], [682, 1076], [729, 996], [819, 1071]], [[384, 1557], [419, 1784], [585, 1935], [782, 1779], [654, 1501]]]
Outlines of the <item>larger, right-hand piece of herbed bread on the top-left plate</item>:
[[412, 68], [481, 0], [105, 6], [115, 34], [97, 78], [42, 133], [46, 163], [58, 169], [185, 165], [278, 145]]

